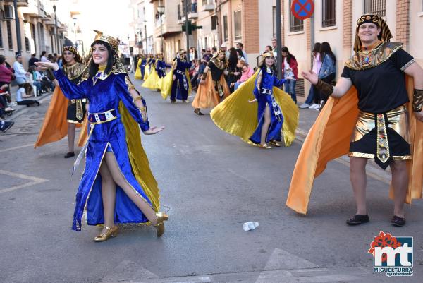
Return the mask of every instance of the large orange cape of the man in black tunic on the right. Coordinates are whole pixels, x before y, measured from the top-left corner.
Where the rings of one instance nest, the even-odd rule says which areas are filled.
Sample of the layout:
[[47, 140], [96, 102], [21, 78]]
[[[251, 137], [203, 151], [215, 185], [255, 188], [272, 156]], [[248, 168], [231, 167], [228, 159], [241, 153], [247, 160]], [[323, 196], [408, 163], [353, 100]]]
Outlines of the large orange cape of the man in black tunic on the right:
[[[407, 92], [412, 109], [413, 81], [407, 76]], [[357, 90], [351, 88], [340, 99], [329, 98], [316, 122], [310, 129], [293, 172], [286, 205], [296, 212], [306, 214], [314, 178], [319, 176], [332, 159], [346, 155], [350, 137], [357, 120]], [[407, 160], [408, 190], [405, 202], [422, 198], [423, 188], [423, 123], [417, 121], [412, 111], [410, 118], [410, 143], [412, 160]], [[389, 192], [393, 198], [393, 188]]]

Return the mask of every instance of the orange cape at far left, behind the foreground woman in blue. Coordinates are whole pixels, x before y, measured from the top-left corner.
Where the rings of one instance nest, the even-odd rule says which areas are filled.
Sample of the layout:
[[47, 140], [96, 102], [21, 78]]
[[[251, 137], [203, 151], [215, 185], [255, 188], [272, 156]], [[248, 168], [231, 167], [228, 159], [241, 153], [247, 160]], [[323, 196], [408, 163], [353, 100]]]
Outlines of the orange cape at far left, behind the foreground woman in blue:
[[[68, 104], [69, 100], [63, 95], [59, 86], [56, 86], [51, 95], [51, 102], [39, 130], [34, 148], [47, 143], [54, 143], [68, 135], [68, 121], [66, 119]], [[87, 117], [85, 117], [83, 124], [87, 124]], [[76, 126], [78, 128], [81, 127], [80, 124], [76, 124]], [[79, 142], [78, 145], [81, 146]]]

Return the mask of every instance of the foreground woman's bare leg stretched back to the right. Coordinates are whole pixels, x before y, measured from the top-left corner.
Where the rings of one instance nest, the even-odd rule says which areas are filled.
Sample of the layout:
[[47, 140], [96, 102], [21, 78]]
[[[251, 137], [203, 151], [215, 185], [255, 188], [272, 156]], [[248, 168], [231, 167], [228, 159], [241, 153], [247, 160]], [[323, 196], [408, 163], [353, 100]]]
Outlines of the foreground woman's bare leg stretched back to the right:
[[125, 177], [121, 173], [121, 169], [118, 167], [118, 163], [116, 162], [116, 158], [114, 156], [113, 152], [106, 152], [106, 155], [104, 156], [104, 161], [107, 164], [107, 167], [109, 168], [111, 172], [111, 176], [114, 180], [114, 182], [120, 186], [123, 191], [125, 191], [126, 195], [132, 200], [135, 205], [137, 205], [138, 208], [142, 211], [142, 213], [149, 219], [149, 222], [151, 222], [153, 225], [157, 224], [157, 217], [156, 212], [152, 209], [149, 204], [140, 198], [140, 195], [135, 193], [133, 188], [130, 186], [128, 181], [126, 181]]

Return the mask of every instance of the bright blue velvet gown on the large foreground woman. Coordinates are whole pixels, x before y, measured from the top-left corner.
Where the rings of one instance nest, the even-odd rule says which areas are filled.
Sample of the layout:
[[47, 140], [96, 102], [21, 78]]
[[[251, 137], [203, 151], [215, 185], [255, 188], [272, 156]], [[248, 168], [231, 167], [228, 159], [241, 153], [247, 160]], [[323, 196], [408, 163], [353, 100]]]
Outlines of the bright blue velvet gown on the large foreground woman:
[[[64, 76], [61, 70], [55, 71], [54, 76], [56, 76], [63, 94], [68, 99], [87, 98], [90, 101], [90, 113], [101, 113], [111, 109], [116, 109], [117, 113], [117, 119], [94, 125], [92, 134], [87, 141], [85, 170], [76, 194], [72, 229], [81, 230], [84, 210], [86, 210], [87, 224], [104, 224], [102, 176], [99, 174], [99, 168], [106, 152], [114, 153], [125, 180], [128, 181], [140, 198], [152, 205], [133, 174], [128, 156], [128, 145], [125, 140], [125, 128], [121, 121], [121, 114], [118, 112], [119, 103], [123, 102], [130, 116], [137, 121], [142, 131], [149, 129], [148, 121], [143, 121], [140, 110], [135, 106], [128, 92], [128, 85], [125, 81], [128, 74], [110, 73], [104, 79], [98, 78], [95, 83], [92, 78], [89, 78], [79, 85], [71, 83], [71, 80]], [[147, 217], [118, 186], [116, 186], [115, 222], [148, 222]]]

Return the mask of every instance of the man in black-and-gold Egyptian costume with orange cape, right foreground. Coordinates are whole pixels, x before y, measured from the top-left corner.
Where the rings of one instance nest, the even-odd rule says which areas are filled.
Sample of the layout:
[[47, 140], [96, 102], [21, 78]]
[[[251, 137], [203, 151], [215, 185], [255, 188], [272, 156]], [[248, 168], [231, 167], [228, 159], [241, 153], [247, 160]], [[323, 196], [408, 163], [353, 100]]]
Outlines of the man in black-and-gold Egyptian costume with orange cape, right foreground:
[[390, 42], [385, 21], [365, 14], [357, 21], [355, 54], [335, 87], [303, 72], [329, 97], [302, 146], [286, 205], [305, 214], [314, 178], [326, 163], [348, 153], [357, 205], [350, 225], [369, 222], [366, 207], [368, 159], [391, 168], [391, 224], [405, 224], [404, 203], [422, 198], [423, 70], [403, 45]]

